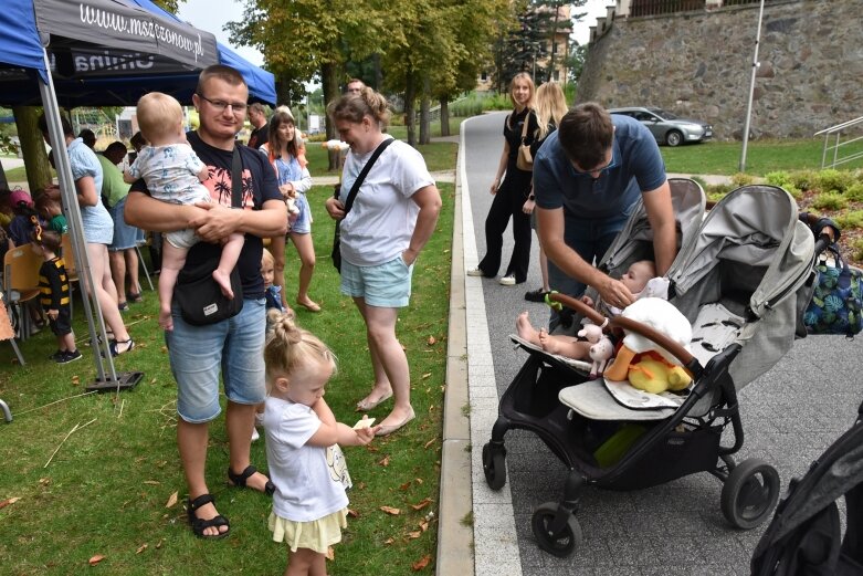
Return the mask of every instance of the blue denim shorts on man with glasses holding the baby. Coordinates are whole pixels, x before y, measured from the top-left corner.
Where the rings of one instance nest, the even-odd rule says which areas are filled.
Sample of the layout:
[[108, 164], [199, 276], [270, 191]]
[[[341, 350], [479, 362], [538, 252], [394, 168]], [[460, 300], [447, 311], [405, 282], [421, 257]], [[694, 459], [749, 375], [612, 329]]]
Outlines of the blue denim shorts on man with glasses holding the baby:
[[177, 304], [171, 315], [173, 331], [165, 333], [165, 341], [177, 380], [180, 418], [201, 423], [219, 416], [220, 373], [230, 401], [264, 401], [264, 299], [246, 299], [240, 314], [209, 326], [183, 322]]

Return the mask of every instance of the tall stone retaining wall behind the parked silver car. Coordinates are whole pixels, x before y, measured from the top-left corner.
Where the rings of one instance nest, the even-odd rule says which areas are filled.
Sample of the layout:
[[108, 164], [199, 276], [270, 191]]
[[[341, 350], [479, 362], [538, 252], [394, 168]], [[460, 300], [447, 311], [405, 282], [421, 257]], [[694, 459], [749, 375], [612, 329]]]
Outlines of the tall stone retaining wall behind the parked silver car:
[[[740, 139], [758, 4], [618, 18], [590, 44], [578, 102], [652, 105]], [[863, 116], [863, 1], [765, 6], [750, 134], [809, 137]]]

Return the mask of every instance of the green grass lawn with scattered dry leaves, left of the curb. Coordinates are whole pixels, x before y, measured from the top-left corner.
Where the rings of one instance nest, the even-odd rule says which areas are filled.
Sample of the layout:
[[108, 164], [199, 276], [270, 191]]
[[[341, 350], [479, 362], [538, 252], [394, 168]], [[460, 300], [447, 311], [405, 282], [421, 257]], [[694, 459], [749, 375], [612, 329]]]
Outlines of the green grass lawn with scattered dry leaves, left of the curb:
[[[338, 356], [339, 373], [327, 387], [327, 401], [339, 420], [352, 425], [359, 417], [354, 405], [367, 394], [372, 376], [362, 322], [350, 300], [339, 294], [329, 262], [333, 222], [323, 208], [329, 192], [328, 187], [309, 192], [318, 256], [311, 293], [324, 310], [312, 314], [299, 308], [298, 321]], [[349, 494], [355, 517], [335, 547], [330, 574], [412, 574], [412, 565], [425, 557], [429, 565], [419, 574], [434, 570], [454, 187], [442, 185], [441, 192], [438, 230], [420, 256], [411, 306], [398, 327], [411, 366], [417, 419], [392, 438], [345, 449], [355, 482]], [[296, 285], [298, 268], [288, 248], [288, 286]], [[288, 294], [293, 300], [293, 292]], [[118, 357], [117, 368], [140, 370], [145, 377], [136, 389], [119, 395], [71, 398], [95, 377], [93, 353], [83, 346], [87, 336], [80, 303], [75, 315], [82, 360], [65, 366], [48, 360], [55, 349], [48, 329], [21, 344], [27, 366], [18, 366], [11, 347], [0, 343], [0, 399], [14, 416], [12, 423], [0, 421], [0, 506], [7, 503], [0, 507], [3, 574], [281, 574], [284, 569], [285, 548], [271, 541], [266, 528], [269, 500], [227, 485], [224, 416], [211, 427], [207, 478], [220, 512], [231, 520], [231, 536], [206, 542], [188, 527], [175, 437], [176, 385], [157, 310], [156, 293], [145, 291], [145, 302], [131, 304], [124, 315], [138, 347]], [[51, 402], [57, 404], [48, 406]], [[383, 418], [389, 406], [371, 416]], [[63, 442], [76, 425], [94, 419]], [[253, 444], [252, 461], [266, 468], [263, 441]], [[175, 493], [178, 502], [168, 505]], [[9, 503], [9, 499], [19, 500]], [[398, 509], [399, 514], [387, 514], [381, 506]], [[105, 558], [91, 568], [88, 559], [96, 555]]]

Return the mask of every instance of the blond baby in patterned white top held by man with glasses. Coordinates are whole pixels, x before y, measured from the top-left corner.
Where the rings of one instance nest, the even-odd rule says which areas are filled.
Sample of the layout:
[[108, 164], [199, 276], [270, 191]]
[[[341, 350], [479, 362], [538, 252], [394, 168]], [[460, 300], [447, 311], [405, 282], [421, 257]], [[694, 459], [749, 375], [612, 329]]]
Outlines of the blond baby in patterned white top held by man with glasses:
[[[180, 103], [160, 92], [145, 94], [138, 101], [138, 125], [150, 145], [140, 150], [126, 181], [144, 178], [154, 198], [171, 203], [211, 202], [210, 191], [201, 184], [209, 178], [209, 169], [186, 142]], [[186, 264], [189, 249], [200, 239], [192, 229], [167, 232], [165, 239], [159, 275], [159, 325], [169, 331], [173, 329], [171, 299], [177, 276]], [[234, 297], [231, 271], [242, 248], [243, 234], [228, 237], [219, 266], [213, 271], [213, 280], [228, 299]]]

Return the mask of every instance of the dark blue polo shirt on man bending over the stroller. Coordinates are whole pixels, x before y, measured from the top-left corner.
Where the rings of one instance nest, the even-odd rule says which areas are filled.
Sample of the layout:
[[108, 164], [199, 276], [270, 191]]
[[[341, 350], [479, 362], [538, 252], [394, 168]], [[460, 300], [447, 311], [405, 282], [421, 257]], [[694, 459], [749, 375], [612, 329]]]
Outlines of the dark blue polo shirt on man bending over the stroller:
[[609, 218], [624, 213], [641, 192], [665, 182], [665, 164], [648, 128], [629, 116], [611, 115], [614, 124], [610, 168], [593, 180], [576, 171], [564, 153], [558, 132], [550, 134], [534, 158], [534, 193], [540, 208], [564, 208], [568, 218]]

